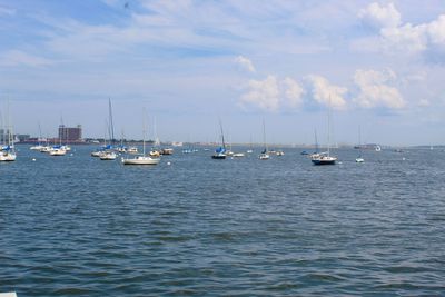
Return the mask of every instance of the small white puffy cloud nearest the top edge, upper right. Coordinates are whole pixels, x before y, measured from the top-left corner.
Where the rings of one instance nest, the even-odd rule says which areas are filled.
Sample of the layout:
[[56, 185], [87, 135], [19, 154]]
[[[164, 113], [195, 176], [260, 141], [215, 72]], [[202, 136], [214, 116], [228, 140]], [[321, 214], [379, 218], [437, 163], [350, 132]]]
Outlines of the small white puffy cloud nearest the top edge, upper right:
[[394, 7], [394, 3], [387, 6], [370, 3], [362, 9], [358, 17], [368, 26], [374, 28], [395, 28], [400, 23], [400, 13]]

